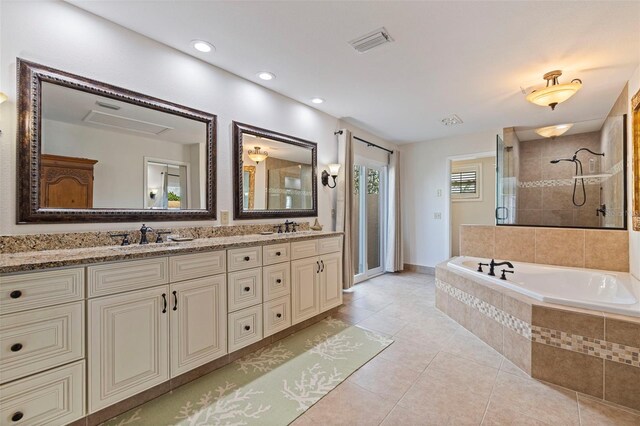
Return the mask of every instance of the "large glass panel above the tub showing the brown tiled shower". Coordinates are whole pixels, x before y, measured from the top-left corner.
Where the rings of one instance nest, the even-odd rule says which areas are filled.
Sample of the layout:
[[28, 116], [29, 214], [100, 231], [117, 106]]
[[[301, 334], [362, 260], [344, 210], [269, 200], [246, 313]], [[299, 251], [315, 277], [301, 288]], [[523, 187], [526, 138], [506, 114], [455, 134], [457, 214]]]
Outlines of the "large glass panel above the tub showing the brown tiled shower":
[[504, 129], [497, 224], [626, 229], [626, 118]]

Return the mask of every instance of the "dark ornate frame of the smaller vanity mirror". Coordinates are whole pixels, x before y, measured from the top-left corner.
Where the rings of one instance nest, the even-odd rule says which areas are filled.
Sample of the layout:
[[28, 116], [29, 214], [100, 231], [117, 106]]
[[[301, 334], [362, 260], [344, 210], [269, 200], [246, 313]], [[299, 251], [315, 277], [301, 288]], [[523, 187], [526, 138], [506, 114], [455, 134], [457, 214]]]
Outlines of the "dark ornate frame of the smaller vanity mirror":
[[[287, 210], [244, 210], [242, 188], [243, 188], [243, 171], [242, 164], [242, 135], [250, 134], [254, 136], [273, 139], [278, 142], [284, 142], [303, 148], [311, 149], [311, 188], [312, 202], [311, 209], [287, 209]], [[283, 133], [273, 132], [267, 129], [250, 126], [233, 122], [233, 218], [234, 219], [271, 219], [271, 218], [289, 218], [289, 217], [316, 217], [318, 216], [318, 179], [317, 179], [317, 162], [318, 162], [318, 145], [294, 136], [285, 135]]]

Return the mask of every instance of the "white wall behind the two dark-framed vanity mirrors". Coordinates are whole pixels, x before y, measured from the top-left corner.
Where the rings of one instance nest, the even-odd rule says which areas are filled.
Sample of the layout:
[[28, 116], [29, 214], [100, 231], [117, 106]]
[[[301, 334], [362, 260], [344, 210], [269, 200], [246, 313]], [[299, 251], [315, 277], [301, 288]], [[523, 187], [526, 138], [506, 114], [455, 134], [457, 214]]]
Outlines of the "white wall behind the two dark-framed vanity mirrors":
[[[66, 3], [2, 2], [0, 8], [0, 91], [9, 95], [9, 101], [0, 106], [2, 235], [108, 230], [116, 226], [16, 225], [16, 57], [216, 114], [218, 211], [233, 210], [232, 120], [317, 142], [319, 171], [337, 160], [333, 132], [340, 122], [335, 117]], [[334, 197], [333, 190], [318, 186], [321, 223], [332, 222]], [[211, 225], [218, 221], [180, 223]], [[177, 224], [156, 222], [156, 226]], [[135, 228], [139, 223], [117, 226]]]

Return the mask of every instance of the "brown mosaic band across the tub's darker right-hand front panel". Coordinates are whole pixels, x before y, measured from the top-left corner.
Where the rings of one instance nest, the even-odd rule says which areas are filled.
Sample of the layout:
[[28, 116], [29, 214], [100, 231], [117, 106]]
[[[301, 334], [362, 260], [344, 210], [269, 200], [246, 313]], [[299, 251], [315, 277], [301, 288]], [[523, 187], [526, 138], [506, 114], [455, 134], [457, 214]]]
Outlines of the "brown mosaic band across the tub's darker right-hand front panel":
[[565, 333], [564, 331], [552, 330], [537, 325], [531, 327], [531, 341], [640, 367], [640, 348], [621, 345], [620, 343]]

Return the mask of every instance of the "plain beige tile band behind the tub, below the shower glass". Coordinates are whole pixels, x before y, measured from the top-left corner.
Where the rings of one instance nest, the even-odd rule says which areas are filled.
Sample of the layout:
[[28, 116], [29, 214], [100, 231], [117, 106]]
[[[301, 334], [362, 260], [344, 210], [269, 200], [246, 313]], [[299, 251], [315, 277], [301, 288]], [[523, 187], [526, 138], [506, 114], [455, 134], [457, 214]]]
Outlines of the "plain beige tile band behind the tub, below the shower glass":
[[602, 229], [462, 225], [460, 254], [627, 272], [629, 233]]

